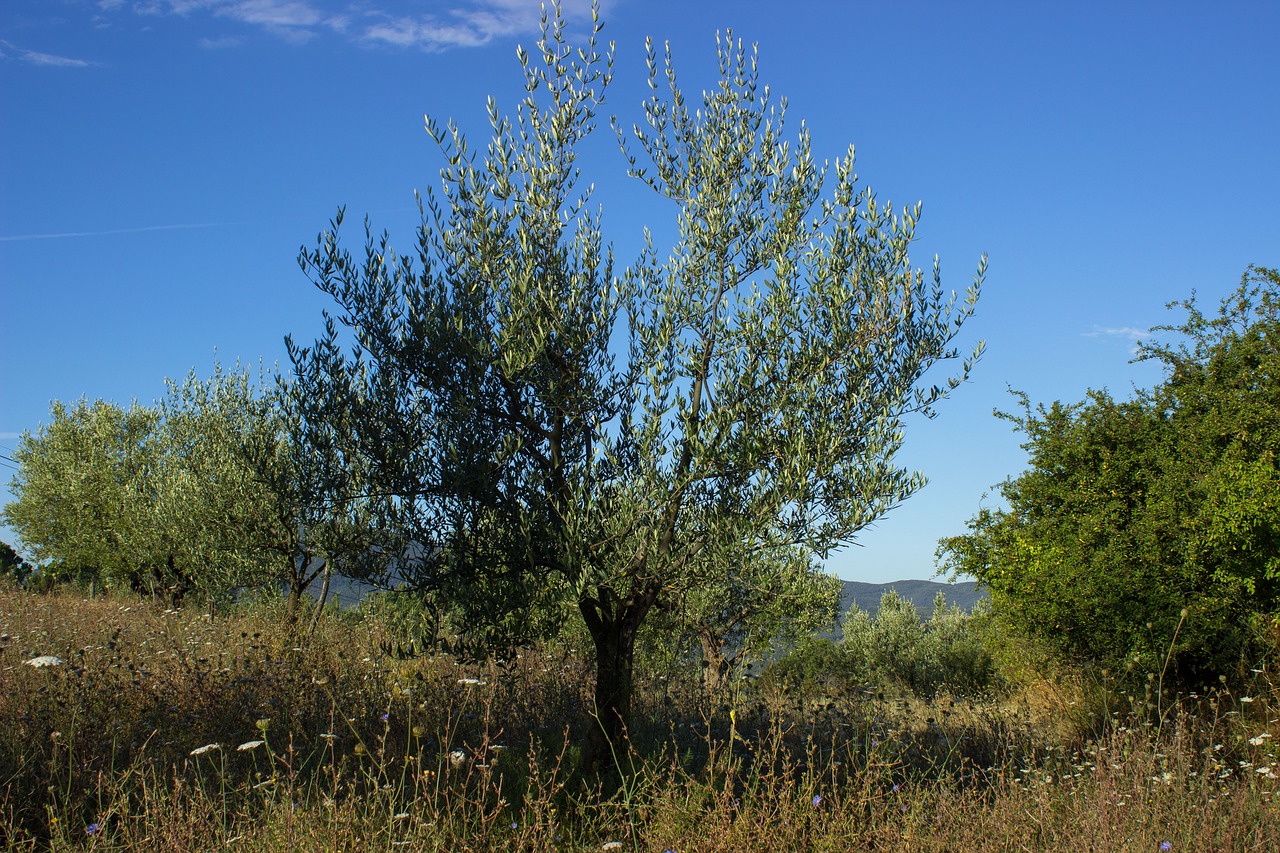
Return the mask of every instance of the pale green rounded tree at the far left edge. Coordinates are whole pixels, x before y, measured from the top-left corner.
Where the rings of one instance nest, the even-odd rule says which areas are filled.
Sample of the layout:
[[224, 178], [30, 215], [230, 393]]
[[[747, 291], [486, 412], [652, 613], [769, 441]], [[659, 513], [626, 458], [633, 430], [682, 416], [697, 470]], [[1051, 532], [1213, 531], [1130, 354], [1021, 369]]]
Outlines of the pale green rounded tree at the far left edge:
[[18, 439], [10, 484], [17, 497], [4, 507], [5, 524], [42, 574], [134, 589], [161, 581], [151, 556], [134, 547], [159, 414], [81, 400], [72, 407], [55, 401], [50, 415]]

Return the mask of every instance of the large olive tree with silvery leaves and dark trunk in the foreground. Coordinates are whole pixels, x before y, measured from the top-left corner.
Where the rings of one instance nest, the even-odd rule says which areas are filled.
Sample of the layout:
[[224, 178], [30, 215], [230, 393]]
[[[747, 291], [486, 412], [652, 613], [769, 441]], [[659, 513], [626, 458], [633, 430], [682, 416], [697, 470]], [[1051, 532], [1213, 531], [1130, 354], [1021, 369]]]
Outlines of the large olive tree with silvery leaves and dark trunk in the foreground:
[[[536, 58], [520, 51], [526, 97], [513, 118], [490, 101], [480, 149], [429, 120], [445, 167], [416, 256], [366, 227], [356, 260], [339, 213], [301, 263], [353, 352], [332, 323], [310, 352], [291, 342], [298, 382], [338, 387], [317, 393], [355, 412], [389, 525], [424, 548], [424, 587], [488, 639], [580, 615], [596, 663], [588, 766], [623, 740], [640, 625], [691, 587], [704, 549], [847, 543], [923, 485], [893, 461], [902, 419], [931, 414], [978, 355], [920, 386], [957, 359], [978, 282], [957, 300], [937, 265], [925, 280], [908, 254], [919, 207], [859, 192], [852, 151], [828, 175], [731, 38], [698, 106], [650, 47], [645, 124], [620, 136], [678, 238], [614, 277], [577, 161], [612, 74], [598, 36], [596, 22], [573, 49], [545, 20]], [[320, 351], [338, 353], [323, 378]]]

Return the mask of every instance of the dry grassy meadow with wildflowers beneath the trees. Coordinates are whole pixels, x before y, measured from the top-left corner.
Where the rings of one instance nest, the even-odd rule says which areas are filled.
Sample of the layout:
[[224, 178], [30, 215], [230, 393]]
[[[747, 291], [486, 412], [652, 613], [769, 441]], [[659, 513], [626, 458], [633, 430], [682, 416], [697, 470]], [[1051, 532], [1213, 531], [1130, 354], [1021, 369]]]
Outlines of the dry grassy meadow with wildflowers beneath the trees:
[[1075, 678], [964, 699], [762, 679], [710, 701], [696, 667], [650, 671], [602, 781], [575, 771], [591, 672], [572, 640], [404, 658], [375, 617], [312, 634], [282, 612], [0, 588], [0, 847], [1280, 849], [1267, 672], [1139, 715]]

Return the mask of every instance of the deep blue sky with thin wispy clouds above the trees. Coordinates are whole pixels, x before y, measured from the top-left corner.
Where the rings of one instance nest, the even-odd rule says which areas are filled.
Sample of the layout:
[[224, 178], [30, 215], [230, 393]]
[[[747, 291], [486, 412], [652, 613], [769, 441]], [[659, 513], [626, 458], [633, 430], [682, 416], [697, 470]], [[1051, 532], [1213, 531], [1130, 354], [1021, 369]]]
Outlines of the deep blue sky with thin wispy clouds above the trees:
[[[567, 3], [585, 28], [588, 4]], [[756, 42], [762, 78], [819, 156], [854, 142], [863, 183], [924, 202], [913, 255], [963, 289], [991, 259], [963, 342], [970, 383], [913, 421], [931, 484], [828, 561], [928, 578], [1024, 455], [991, 416], [1124, 394], [1138, 334], [1280, 265], [1280, 4], [605, 0], [609, 110], [639, 119], [644, 38], [682, 85], [714, 81], [716, 32]], [[287, 362], [324, 297], [298, 270], [339, 205], [408, 247], [436, 184], [422, 115], [483, 138], [485, 97], [521, 93], [525, 0], [5, 0], [0, 8], [0, 453], [52, 400], [150, 402], [215, 357]], [[669, 234], [609, 134], [586, 159], [618, 257]], [[352, 233], [355, 236], [355, 233]], [[216, 356], [215, 356], [216, 351]], [[12, 466], [0, 459], [0, 475]], [[0, 500], [8, 500], [0, 496]], [[991, 502], [992, 498], [987, 498]], [[5, 538], [12, 538], [8, 533]]]

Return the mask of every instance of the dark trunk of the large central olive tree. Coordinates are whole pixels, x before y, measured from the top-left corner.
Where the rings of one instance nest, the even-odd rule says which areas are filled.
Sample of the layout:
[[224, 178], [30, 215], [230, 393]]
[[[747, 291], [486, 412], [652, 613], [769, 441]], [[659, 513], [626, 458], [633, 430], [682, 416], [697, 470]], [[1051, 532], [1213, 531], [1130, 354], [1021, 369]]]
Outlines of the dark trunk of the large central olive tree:
[[582, 752], [584, 774], [595, 775], [616, 767], [628, 749], [636, 633], [649, 603], [620, 603], [609, 612], [584, 601], [579, 608], [595, 643], [595, 719]]

